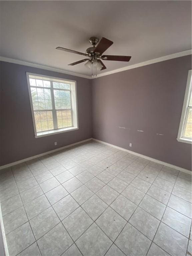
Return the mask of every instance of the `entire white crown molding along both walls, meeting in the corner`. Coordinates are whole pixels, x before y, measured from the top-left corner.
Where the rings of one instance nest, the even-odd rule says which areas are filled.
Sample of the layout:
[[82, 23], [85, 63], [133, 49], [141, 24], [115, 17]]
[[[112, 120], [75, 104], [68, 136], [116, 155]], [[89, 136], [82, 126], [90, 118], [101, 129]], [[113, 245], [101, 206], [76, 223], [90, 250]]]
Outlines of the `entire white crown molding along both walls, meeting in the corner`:
[[[140, 63], [137, 63], [137, 64], [129, 65], [129, 66], [126, 66], [126, 67], [123, 67], [123, 68], [118, 68], [118, 69], [114, 69], [114, 70], [111, 70], [111, 71], [107, 71], [107, 72], [98, 74], [97, 77], [107, 76], [107, 75], [122, 72], [122, 71], [125, 71], [125, 70], [138, 68], [138, 67], [150, 65], [150, 64], [153, 64], [153, 63], [157, 63], [157, 62], [161, 62], [161, 61], [165, 61], [165, 60], [170, 60], [170, 59], [174, 59], [174, 58], [178, 58], [178, 57], [183, 57], [183, 56], [191, 55], [191, 54], [192, 54], [191, 49], [186, 50], [186, 51], [182, 51], [182, 52], [177, 52], [177, 53], [169, 54], [169, 55], [159, 57], [159, 58], [156, 58], [156, 59], [147, 60], [147, 61], [140, 62]], [[34, 67], [34, 68], [40, 68], [40, 69], [45, 69], [45, 70], [50, 70], [50, 71], [59, 72], [59, 73], [67, 74], [67, 75], [79, 76], [79, 77], [83, 77], [83, 78], [87, 78], [87, 79], [95, 79], [96, 78], [96, 76], [92, 77], [92, 76], [82, 75], [82, 74], [75, 73], [75, 72], [70, 72], [70, 71], [67, 71], [67, 70], [64, 70], [64, 69], [58, 69], [58, 68], [53, 68], [53, 67], [49, 67], [49, 66], [43, 66], [43, 65], [40, 65], [40, 64], [32, 63], [32, 62], [10, 59], [10, 58], [6, 58], [6, 57], [2, 57], [2, 56], [0, 56], [0, 61], [15, 63], [15, 64], [19, 64], [19, 65]]]

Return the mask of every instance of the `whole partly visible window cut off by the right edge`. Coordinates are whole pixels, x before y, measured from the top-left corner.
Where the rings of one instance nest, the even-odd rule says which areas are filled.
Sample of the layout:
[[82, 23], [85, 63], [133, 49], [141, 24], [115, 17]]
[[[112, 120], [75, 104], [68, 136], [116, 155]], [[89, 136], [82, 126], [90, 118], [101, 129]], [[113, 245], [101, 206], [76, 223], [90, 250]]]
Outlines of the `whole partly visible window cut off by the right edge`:
[[189, 70], [187, 86], [179, 125], [178, 141], [192, 143], [192, 70]]

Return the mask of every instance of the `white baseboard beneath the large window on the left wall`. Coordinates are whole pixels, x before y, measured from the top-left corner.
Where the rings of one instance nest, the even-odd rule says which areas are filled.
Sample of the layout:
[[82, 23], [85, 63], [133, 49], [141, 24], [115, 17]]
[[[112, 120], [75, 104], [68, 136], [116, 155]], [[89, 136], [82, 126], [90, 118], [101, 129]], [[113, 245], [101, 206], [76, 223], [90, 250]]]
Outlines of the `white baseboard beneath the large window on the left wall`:
[[72, 147], [72, 146], [81, 144], [81, 143], [86, 142], [86, 141], [89, 141], [89, 140], [92, 140], [92, 138], [89, 138], [89, 139], [86, 139], [86, 140], [81, 140], [81, 141], [75, 142], [75, 143], [73, 143], [73, 144], [70, 144], [70, 145], [61, 147], [61, 148], [56, 148], [56, 149], [53, 149], [53, 150], [50, 150], [50, 151], [41, 153], [41, 154], [39, 154], [39, 155], [35, 155], [35, 156], [31, 156], [31, 157], [28, 157], [28, 158], [25, 158], [25, 159], [21, 159], [21, 160], [19, 160], [19, 161], [16, 161], [16, 162], [13, 162], [13, 163], [10, 163], [10, 164], [1, 165], [1, 166], [0, 166], [0, 170], [1, 170], [1, 169], [8, 168], [8, 167], [11, 167], [11, 166], [16, 165], [16, 164], [20, 164], [20, 163], [29, 161], [29, 160], [31, 160], [31, 159], [35, 159], [35, 158], [37, 158], [37, 157], [41, 157], [41, 156], [44, 156], [44, 155], [48, 155], [48, 154], [54, 153], [54, 152], [56, 152], [56, 151], [59, 151], [59, 150], [65, 149], [65, 148], [69, 148], [69, 147]]

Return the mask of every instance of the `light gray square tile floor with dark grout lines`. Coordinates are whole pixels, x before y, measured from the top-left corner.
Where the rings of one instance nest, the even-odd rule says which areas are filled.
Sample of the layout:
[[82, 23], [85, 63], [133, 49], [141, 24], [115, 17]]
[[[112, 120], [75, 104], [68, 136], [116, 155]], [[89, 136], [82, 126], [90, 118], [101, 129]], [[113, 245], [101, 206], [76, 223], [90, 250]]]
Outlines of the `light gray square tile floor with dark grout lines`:
[[190, 256], [191, 176], [90, 141], [0, 171], [10, 256]]

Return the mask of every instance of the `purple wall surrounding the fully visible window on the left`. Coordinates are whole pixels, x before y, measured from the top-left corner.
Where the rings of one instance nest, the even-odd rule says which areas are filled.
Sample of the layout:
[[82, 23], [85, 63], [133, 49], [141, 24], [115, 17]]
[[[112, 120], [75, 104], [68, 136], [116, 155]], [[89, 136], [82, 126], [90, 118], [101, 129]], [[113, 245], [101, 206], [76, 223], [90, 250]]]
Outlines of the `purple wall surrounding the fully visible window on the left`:
[[[1, 162], [8, 164], [92, 137], [91, 80], [23, 65], [0, 62]], [[26, 72], [77, 81], [79, 130], [35, 138]], [[57, 146], [54, 142], [57, 141]]]

